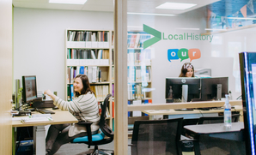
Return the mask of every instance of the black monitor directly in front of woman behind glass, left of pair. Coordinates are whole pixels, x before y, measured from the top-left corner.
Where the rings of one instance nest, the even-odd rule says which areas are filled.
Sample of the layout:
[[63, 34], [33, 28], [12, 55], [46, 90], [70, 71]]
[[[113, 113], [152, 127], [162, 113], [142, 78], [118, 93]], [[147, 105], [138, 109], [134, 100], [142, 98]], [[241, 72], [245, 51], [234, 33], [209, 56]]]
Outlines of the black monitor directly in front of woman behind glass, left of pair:
[[184, 99], [182, 93], [186, 94], [185, 102], [190, 102], [193, 98], [200, 98], [200, 79], [193, 77], [166, 78], [165, 98], [167, 102], [172, 102], [170, 98], [173, 98], [174, 102], [175, 99]]

